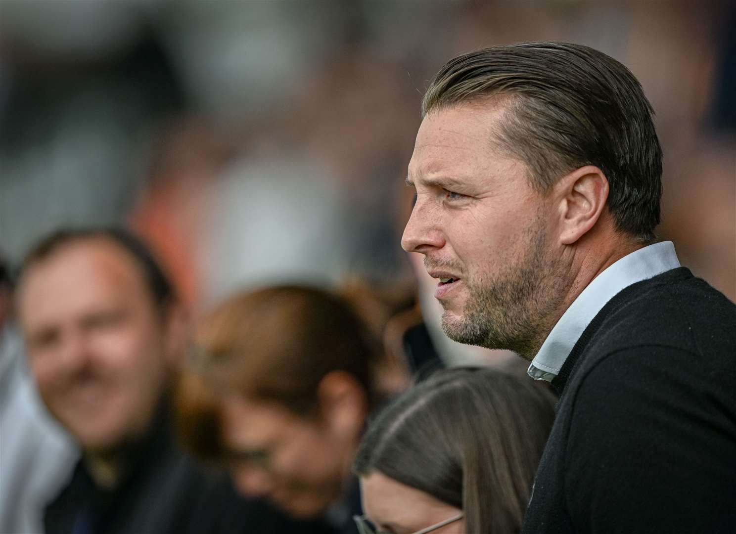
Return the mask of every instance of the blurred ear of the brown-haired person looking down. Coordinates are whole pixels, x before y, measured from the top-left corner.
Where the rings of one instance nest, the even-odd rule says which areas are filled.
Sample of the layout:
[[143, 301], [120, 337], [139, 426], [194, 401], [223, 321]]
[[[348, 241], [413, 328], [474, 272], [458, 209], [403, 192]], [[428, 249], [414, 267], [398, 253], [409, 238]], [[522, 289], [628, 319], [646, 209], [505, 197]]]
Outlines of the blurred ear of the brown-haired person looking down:
[[358, 439], [368, 415], [366, 392], [345, 371], [331, 371], [317, 387], [322, 421], [330, 433], [350, 443]]

